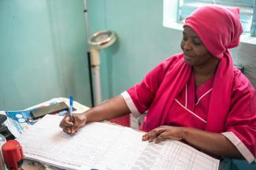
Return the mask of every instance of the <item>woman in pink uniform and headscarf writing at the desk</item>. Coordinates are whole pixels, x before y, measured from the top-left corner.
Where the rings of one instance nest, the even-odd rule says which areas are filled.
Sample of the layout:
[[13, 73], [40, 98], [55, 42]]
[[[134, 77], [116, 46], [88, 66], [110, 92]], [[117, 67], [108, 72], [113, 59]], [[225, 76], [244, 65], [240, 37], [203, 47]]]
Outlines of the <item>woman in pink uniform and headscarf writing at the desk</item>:
[[67, 133], [91, 121], [148, 110], [143, 141], [182, 140], [216, 157], [256, 154], [256, 93], [233, 67], [228, 49], [239, 45], [239, 9], [204, 6], [187, 17], [181, 49], [121, 95], [61, 121]]

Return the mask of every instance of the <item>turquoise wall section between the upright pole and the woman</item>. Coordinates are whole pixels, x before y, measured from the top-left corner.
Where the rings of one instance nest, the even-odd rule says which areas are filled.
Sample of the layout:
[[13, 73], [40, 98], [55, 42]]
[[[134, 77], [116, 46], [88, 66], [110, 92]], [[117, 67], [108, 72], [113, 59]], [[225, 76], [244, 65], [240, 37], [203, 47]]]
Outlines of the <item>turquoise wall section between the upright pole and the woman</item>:
[[103, 99], [125, 91], [159, 61], [180, 52], [180, 31], [162, 26], [162, 1], [87, 2], [90, 33], [110, 29], [118, 35], [117, 43], [101, 51]]

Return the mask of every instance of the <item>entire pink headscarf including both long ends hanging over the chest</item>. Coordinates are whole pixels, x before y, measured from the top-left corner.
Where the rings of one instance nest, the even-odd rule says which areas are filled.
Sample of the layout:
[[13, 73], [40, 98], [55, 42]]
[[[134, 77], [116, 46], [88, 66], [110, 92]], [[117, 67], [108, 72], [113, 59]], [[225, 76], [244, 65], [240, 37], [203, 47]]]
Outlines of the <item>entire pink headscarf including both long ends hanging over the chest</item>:
[[[213, 82], [210, 97], [210, 108], [207, 116], [206, 131], [222, 132], [230, 108], [233, 61], [228, 49], [239, 45], [239, 36], [243, 29], [239, 21], [238, 8], [222, 8], [218, 6], [203, 6], [195, 10], [185, 20], [184, 26], [192, 28], [200, 37], [206, 48], [214, 57], [220, 59]], [[184, 55], [166, 73], [161, 88], [156, 94], [142, 126], [144, 131], [165, 124], [165, 118], [174, 98], [180, 93], [192, 74], [191, 66], [184, 62]], [[162, 104], [158, 101], [165, 101]]]

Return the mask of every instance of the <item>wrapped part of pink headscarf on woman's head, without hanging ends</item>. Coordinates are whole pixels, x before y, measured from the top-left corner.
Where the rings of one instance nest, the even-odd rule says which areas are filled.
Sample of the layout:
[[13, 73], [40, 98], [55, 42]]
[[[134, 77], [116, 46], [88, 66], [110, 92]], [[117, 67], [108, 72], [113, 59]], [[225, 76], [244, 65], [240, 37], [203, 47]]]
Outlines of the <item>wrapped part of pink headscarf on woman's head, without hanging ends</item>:
[[[192, 28], [214, 57], [224, 57], [229, 49], [239, 45], [242, 26], [239, 8], [203, 6], [185, 20], [184, 27]], [[229, 55], [228, 55], [229, 56]]]

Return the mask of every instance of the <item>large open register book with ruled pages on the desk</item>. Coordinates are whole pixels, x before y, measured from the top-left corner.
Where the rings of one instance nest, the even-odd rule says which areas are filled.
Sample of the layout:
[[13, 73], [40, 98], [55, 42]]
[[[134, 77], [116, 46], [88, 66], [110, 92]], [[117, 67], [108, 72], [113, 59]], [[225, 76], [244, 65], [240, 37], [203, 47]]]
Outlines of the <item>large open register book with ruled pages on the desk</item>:
[[219, 160], [175, 140], [143, 142], [141, 131], [90, 123], [76, 135], [59, 127], [63, 116], [46, 115], [18, 137], [25, 158], [65, 169], [217, 170]]

